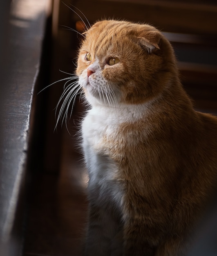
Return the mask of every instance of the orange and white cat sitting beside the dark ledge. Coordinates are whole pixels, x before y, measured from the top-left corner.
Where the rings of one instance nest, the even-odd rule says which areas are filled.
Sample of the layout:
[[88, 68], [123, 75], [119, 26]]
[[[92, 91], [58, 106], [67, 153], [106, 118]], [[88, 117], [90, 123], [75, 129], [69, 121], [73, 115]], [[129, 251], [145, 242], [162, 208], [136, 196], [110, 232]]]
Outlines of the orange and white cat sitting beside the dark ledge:
[[84, 256], [183, 256], [217, 179], [217, 118], [197, 112], [153, 26], [96, 22], [76, 75], [89, 174]]

